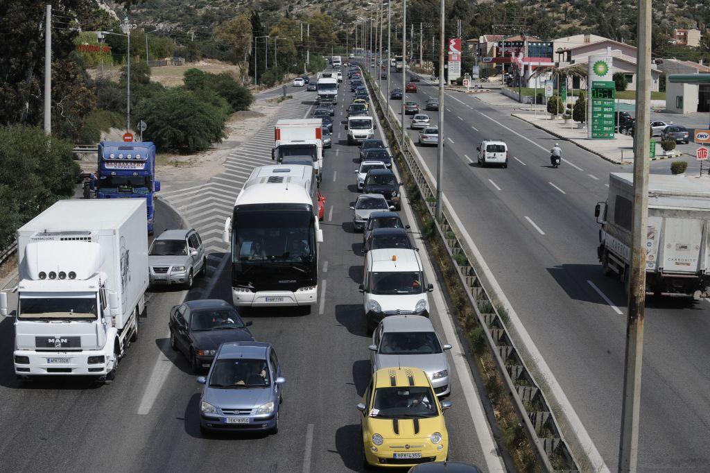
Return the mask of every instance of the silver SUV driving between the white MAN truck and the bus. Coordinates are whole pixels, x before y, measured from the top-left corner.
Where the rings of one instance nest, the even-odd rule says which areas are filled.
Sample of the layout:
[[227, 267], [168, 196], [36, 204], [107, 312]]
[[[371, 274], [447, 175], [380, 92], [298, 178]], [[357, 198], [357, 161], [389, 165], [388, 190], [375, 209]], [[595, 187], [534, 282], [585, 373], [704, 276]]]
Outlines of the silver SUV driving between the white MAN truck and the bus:
[[194, 229], [165, 230], [148, 252], [151, 286], [182, 284], [189, 289], [195, 276], [204, 276], [206, 269], [204, 245]]

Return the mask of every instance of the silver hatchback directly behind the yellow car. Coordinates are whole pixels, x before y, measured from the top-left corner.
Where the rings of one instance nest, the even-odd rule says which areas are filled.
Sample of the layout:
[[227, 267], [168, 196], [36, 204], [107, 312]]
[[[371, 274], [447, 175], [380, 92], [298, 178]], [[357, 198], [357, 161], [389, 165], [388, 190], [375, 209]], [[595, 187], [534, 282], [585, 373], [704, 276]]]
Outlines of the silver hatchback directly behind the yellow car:
[[446, 351], [451, 345], [439, 340], [432, 322], [421, 315], [391, 315], [383, 318], [372, 334], [370, 363], [378, 369], [412, 366], [422, 369], [437, 396], [451, 393]]

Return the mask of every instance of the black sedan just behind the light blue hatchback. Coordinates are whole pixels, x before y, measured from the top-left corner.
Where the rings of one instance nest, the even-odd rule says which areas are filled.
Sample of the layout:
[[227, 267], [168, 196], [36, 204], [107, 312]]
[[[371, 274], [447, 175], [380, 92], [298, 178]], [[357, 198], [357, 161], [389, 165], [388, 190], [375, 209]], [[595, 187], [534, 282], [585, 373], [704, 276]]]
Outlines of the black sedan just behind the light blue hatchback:
[[251, 322], [244, 322], [231, 304], [219, 299], [189, 300], [170, 310], [170, 347], [185, 354], [192, 371], [209, 368], [219, 345], [253, 342]]

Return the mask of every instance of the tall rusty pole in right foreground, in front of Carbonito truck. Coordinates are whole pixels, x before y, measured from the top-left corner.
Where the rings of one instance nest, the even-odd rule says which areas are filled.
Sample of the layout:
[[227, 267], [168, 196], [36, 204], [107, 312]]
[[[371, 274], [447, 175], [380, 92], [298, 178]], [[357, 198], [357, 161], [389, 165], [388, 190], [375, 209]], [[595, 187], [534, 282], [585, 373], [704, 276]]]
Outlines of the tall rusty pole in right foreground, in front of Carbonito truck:
[[648, 232], [648, 156], [651, 102], [651, 0], [638, 0], [638, 59], [636, 125], [633, 139], [633, 229], [626, 319], [626, 357], [619, 441], [620, 472], [635, 472], [641, 404], [643, 322], [646, 298], [646, 239]]

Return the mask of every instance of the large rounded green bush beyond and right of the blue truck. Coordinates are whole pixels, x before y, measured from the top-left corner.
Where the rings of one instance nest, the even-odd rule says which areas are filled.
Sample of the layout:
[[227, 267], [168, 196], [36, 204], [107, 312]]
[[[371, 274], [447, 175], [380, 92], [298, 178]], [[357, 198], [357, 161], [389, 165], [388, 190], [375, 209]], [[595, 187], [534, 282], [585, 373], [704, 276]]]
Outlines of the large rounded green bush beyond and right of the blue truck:
[[220, 100], [224, 99], [208, 89], [198, 95], [175, 87], [138, 102], [135, 116], [150, 124], [144, 139], [160, 151], [204, 151], [224, 138], [227, 114]]

